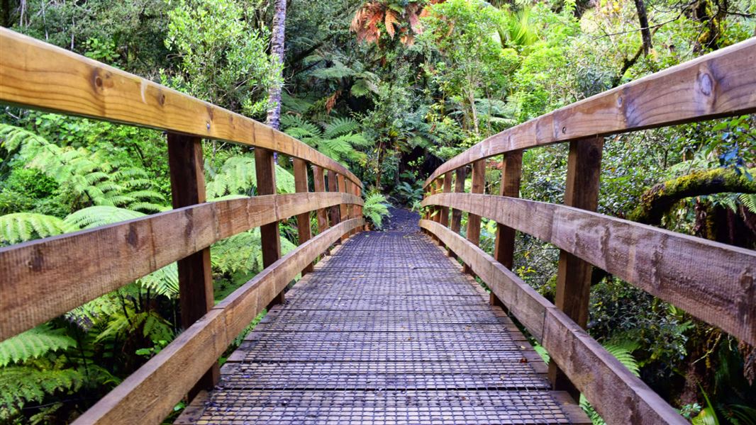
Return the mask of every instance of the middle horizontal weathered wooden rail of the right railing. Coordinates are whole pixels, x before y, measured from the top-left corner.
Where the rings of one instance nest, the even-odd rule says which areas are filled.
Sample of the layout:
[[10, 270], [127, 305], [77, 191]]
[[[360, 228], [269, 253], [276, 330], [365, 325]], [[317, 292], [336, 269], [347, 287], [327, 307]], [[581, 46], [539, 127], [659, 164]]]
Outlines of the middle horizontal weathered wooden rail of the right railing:
[[756, 251], [564, 205], [503, 196], [442, 193], [446, 205], [550, 242], [620, 279], [756, 343]]

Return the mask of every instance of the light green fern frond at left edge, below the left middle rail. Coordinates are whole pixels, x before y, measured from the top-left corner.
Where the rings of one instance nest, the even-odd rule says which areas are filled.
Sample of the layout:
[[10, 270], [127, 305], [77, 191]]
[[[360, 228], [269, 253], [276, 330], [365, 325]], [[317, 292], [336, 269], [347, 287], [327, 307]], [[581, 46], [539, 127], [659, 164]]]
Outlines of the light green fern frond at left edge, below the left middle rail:
[[60, 330], [39, 325], [0, 342], [0, 367], [36, 359], [51, 351], [66, 350], [72, 346], [76, 346], [76, 341]]

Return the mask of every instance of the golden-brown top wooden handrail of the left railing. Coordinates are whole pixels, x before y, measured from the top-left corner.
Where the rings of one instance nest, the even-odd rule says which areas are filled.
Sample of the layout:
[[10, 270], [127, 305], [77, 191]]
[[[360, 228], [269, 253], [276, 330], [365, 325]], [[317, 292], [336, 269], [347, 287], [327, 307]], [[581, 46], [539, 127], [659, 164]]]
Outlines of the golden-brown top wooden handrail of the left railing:
[[335, 171], [343, 165], [288, 134], [88, 57], [0, 28], [0, 103], [271, 149]]

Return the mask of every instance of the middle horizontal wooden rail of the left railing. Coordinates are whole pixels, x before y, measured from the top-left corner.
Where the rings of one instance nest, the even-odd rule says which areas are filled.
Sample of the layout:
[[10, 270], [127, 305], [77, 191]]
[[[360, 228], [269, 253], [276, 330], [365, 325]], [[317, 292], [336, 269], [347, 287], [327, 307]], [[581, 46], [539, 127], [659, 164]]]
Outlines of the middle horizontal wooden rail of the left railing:
[[221, 239], [342, 203], [362, 199], [311, 192], [208, 202], [0, 248], [0, 340]]

